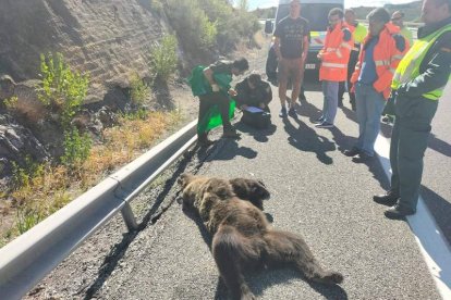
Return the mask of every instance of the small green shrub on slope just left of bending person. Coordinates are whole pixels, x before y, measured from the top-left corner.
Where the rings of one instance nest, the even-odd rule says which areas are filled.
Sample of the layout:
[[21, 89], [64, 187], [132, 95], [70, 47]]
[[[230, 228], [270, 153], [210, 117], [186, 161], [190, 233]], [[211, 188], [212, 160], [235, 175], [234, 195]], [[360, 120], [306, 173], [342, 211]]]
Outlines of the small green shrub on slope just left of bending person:
[[156, 77], [168, 80], [175, 72], [178, 64], [175, 36], [164, 36], [160, 42], [150, 49], [150, 67]]

